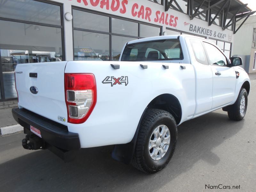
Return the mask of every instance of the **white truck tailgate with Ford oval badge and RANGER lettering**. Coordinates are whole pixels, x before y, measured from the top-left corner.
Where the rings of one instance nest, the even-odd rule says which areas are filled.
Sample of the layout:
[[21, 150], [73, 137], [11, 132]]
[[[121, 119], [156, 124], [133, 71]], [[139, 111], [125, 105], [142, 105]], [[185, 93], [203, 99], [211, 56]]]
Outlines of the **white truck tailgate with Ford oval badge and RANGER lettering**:
[[19, 107], [66, 125], [66, 64], [67, 61], [17, 65], [15, 79]]

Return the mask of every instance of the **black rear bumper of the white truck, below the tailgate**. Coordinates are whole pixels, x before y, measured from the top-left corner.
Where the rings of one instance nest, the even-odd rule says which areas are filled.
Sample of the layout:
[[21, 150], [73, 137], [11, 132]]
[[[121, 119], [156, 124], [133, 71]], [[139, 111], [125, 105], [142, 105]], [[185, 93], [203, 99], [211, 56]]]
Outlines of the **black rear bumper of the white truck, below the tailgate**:
[[12, 116], [24, 127], [24, 133], [26, 134], [33, 134], [30, 131], [30, 125], [32, 125], [40, 130], [42, 139], [49, 145], [64, 150], [80, 149], [78, 133], [68, 132], [68, 127], [65, 125], [54, 122], [24, 108], [13, 108]]

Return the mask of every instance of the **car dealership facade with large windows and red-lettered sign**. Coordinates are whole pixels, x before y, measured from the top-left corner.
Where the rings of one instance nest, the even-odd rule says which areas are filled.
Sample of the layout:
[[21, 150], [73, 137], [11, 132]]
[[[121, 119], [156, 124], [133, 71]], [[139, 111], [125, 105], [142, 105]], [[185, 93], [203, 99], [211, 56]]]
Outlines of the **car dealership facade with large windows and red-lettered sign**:
[[118, 60], [138, 38], [201, 36], [229, 57], [244, 12], [239, 0], [0, 0], [0, 101], [17, 98], [17, 64]]

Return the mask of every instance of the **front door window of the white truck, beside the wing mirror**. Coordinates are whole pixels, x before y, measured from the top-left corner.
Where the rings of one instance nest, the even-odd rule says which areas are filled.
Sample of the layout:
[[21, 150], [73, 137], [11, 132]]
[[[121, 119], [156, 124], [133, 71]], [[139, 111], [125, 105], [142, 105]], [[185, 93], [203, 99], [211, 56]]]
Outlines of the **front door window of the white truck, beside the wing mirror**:
[[209, 57], [210, 65], [227, 66], [226, 57], [217, 47], [206, 42], [204, 42], [204, 47]]

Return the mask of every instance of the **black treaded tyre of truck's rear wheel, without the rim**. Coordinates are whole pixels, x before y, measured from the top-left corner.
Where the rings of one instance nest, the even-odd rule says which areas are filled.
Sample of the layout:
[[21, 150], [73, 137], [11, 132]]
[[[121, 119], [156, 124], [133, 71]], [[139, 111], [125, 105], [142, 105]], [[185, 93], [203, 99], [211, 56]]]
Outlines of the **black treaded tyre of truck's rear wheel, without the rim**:
[[[170, 131], [170, 145], [166, 153], [159, 160], [150, 156], [148, 149], [149, 140], [153, 131], [159, 125], [165, 125]], [[162, 141], [163, 142], [163, 141]], [[163, 169], [171, 160], [177, 142], [177, 124], [174, 117], [167, 111], [160, 109], [148, 109], [141, 121], [132, 165], [146, 173], [156, 173]]]

